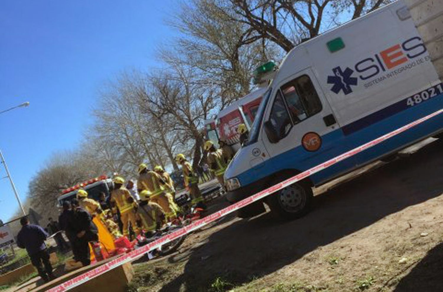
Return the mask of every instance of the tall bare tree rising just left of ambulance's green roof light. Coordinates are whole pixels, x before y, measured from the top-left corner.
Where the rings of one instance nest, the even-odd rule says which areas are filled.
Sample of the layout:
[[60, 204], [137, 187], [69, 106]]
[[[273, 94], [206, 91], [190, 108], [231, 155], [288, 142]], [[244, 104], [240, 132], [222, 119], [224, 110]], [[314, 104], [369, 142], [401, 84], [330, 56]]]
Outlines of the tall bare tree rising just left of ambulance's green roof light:
[[[220, 108], [251, 90], [251, 74], [256, 66], [275, 58], [272, 43], [250, 38], [251, 29], [219, 0], [192, 0], [182, 4], [170, 21], [182, 35], [161, 51], [167, 64], [181, 63], [195, 71], [194, 82], [212, 88], [220, 97]], [[225, 7], [226, 8], [226, 7]]]

